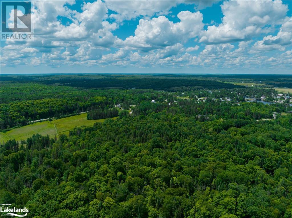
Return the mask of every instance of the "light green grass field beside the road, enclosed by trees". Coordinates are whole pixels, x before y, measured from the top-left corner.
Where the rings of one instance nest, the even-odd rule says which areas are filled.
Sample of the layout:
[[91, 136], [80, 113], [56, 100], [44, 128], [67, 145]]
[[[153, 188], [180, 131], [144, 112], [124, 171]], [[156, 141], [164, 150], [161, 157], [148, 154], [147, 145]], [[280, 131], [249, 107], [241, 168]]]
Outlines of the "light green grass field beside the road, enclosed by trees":
[[[55, 135], [58, 136], [58, 134], [68, 134], [69, 130], [73, 129], [74, 127], [92, 126], [96, 122], [103, 122], [105, 120], [105, 119], [88, 120], [86, 119], [86, 116], [87, 114], [84, 113], [72, 117], [55, 119], [53, 121], [44, 121], [29, 124], [27, 126], [12, 129], [5, 133], [1, 132], [0, 140], [1, 143], [6, 142], [9, 139], [26, 140], [28, 137], [36, 133], [39, 133], [44, 136], [48, 134], [50, 137], [54, 137]], [[112, 119], [116, 118], [117, 117], [114, 117]]]

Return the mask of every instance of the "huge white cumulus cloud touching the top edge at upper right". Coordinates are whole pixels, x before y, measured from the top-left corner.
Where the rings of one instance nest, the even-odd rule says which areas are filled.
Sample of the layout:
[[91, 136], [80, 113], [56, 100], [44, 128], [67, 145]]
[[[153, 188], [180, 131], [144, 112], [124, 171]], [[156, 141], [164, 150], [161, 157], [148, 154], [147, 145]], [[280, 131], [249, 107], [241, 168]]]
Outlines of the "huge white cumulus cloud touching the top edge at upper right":
[[[270, 32], [280, 24], [288, 6], [281, 1], [224, 1], [221, 5], [224, 15], [218, 26], [208, 26], [201, 33], [200, 42], [227, 43], [249, 40], [260, 33]], [[265, 25], [269, 24], [269, 27]]]

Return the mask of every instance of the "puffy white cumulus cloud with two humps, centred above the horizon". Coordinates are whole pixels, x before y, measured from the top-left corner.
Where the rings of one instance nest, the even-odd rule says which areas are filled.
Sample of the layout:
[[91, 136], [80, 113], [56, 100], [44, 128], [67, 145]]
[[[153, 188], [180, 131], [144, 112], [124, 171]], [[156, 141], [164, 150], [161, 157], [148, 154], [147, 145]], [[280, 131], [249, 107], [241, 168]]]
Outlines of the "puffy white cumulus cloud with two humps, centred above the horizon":
[[185, 42], [199, 35], [204, 24], [200, 12], [191, 13], [181, 11], [178, 13], [180, 22], [173, 23], [165, 16], [151, 20], [140, 19], [135, 30], [135, 36], [130, 36], [124, 41], [130, 48], [151, 50]]

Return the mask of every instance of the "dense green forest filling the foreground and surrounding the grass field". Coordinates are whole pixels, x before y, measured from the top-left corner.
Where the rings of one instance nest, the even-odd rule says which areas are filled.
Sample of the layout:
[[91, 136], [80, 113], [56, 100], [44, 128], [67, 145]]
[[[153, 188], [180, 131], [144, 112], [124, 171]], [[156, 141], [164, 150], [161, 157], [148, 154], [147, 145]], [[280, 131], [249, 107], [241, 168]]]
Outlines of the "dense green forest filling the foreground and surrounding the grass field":
[[[67, 135], [1, 143], [1, 203], [26, 207], [34, 218], [292, 217], [292, 107], [245, 99], [272, 98], [274, 89], [190, 81], [167, 89], [96, 89], [75, 87], [78, 76], [60, 76], [71, 85], [59, 89], [58, 76], [46, 76], [54, 85], [41, 76], [1, 81], [1, 129], [2, 122], [3, 129], [17, 128], [36, 116], [118, 116]], [[12, 123], [18, 119], [22, 124]]]

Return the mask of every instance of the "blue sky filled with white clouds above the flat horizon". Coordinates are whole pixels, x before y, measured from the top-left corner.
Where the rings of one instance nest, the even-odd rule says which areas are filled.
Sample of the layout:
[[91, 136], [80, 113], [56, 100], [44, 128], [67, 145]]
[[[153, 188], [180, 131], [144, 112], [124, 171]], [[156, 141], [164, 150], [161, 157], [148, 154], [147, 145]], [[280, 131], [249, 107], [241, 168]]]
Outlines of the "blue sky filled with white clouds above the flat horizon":
[[268, 0], [34, 1], [34, 41], [1, 41], [1, 73], [291, 74], [291, 10]]

